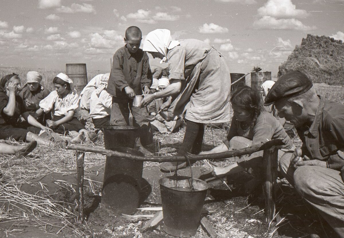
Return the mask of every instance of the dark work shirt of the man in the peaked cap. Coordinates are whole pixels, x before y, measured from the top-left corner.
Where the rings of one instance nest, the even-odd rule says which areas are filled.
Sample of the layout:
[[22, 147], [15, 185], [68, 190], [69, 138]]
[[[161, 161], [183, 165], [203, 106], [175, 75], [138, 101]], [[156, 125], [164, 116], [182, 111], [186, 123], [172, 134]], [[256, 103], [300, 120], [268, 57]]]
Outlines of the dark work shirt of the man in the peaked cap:
[[302, 154], [326, 161], [330, 169], [344, 166], [344, 105], [320, 98], [312, 125], [296, 129]]

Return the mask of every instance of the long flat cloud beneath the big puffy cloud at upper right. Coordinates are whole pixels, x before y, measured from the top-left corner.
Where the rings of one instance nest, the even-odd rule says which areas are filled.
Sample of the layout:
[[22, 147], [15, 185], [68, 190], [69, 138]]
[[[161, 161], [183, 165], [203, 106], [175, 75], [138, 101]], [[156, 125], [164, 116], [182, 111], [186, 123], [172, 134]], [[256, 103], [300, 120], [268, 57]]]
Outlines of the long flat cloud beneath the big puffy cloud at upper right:
[[264, 16], [255, 21], [253, 25], [258, 29], [279, 29], [279, 30], [299, 30], [310, 31], [316, 29], [315, 26], [304, 25], [301, 21], [292, 19], [276, 19], [274, 17]]

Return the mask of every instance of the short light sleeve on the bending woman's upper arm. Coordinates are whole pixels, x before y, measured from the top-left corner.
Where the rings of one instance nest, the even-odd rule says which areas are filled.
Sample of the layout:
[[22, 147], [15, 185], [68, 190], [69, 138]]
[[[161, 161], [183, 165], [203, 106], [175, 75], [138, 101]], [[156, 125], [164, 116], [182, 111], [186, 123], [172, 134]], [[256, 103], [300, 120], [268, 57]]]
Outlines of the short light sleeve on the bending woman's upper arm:
[[169, 79], [185, 80], [185, 56], [186, 51], [181, 47], [175, 47], [167, 54], [167, 63], [169, 68]]

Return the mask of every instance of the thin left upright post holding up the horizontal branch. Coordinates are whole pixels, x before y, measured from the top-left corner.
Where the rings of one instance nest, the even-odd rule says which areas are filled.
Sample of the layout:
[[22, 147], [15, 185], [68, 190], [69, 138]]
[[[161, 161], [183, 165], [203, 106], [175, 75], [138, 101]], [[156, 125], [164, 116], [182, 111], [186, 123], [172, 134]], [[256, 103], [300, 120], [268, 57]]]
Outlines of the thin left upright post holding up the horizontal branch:
[[79, 212], [79, 223], [82, 224], [84, 222], [84, 156], [85, 152], [76, 151], [75, 158], [76, 158], [76, 171], [77, 171], [77, 199], [76, 203], [78, 204], [78, 212]]

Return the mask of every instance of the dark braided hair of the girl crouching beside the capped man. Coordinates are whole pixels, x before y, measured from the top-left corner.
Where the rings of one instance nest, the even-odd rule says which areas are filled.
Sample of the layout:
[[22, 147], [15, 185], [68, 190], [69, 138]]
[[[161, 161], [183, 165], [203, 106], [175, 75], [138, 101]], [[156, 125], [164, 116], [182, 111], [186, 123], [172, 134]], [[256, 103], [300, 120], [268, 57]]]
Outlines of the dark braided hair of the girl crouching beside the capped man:
[[234, 91], [232, 97], [230, 97], [230, 102], [232, 105], [237, 105], [251, 112], [252, 121], [250, 130], [253, 129], [256, 126], [257, 118], [260, 113], [264, 111], [262, 98], [258, 92], [245, 85]]

